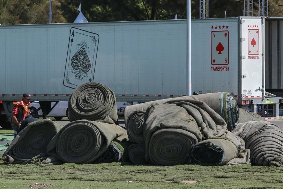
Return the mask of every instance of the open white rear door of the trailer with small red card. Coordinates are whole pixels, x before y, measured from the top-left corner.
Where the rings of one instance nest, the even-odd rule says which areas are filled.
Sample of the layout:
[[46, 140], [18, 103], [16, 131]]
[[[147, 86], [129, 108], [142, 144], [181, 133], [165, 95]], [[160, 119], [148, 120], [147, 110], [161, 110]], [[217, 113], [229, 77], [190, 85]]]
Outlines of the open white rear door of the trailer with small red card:
[[264, 30], [261, 17], [241, 17], [241, 97], [261, 98], [264, 94]]

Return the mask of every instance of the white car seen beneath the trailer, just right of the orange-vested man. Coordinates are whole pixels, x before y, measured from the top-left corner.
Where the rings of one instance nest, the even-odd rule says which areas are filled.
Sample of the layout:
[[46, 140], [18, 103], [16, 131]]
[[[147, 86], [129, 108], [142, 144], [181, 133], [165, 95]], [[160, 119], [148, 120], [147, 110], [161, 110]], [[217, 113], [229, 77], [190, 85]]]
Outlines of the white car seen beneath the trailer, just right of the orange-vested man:
[[[55, 102], [51, 102], [51, 107]], [[34, 101], [31, 104], [31, 112], [36, 111], [40, 108], [39, 101]], [[53, 108], [53, 110], [47, 115], [47, 117], [54, 117], [56, 120], [61, 120], [63, 117], [69, 118], [68, 101], [59, 101], [58, 104]], [[42, 110], [38, 110], [34, 117], [42, 117]]]

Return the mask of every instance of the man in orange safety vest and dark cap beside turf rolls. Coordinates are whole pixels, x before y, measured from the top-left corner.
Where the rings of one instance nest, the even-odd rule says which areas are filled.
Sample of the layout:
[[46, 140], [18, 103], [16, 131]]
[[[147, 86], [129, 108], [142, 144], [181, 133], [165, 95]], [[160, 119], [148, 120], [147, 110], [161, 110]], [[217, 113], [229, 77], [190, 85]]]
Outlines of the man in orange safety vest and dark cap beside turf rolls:
[[14, 138], [17, 136], [17, 131], [21, 126], [21, 122], [25, 119], [27, 114], [30, 114], [30, 100], [31, 95], [24, 93], [21, 100], [13, 102], [14, 107], [11, 115], [11, 126], [14, 129]]

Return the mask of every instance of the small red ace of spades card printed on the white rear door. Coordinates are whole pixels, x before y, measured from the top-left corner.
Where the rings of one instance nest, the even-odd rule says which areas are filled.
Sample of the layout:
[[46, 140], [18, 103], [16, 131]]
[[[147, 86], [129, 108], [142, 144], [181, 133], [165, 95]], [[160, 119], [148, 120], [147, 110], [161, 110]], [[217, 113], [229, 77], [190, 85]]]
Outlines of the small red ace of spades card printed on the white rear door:
[[259, 29], [248, 30], [248, 54], [259, 55]]

